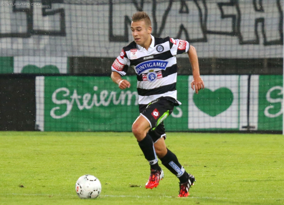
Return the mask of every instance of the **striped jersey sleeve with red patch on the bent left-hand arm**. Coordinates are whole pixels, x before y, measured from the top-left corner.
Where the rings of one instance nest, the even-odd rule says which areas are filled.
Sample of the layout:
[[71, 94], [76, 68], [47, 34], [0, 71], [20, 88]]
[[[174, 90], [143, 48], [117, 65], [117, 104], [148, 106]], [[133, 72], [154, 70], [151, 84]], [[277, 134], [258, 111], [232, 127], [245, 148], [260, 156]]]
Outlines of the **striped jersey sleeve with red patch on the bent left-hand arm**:
[[130, 65], [130, 61], [127, 58], [124, 49], [122, 49], [120, 55], [114, 60], [113, 64], [111, 65], [111, 71], [118, 72], [120, 75], [125, 76], [128, 65]]

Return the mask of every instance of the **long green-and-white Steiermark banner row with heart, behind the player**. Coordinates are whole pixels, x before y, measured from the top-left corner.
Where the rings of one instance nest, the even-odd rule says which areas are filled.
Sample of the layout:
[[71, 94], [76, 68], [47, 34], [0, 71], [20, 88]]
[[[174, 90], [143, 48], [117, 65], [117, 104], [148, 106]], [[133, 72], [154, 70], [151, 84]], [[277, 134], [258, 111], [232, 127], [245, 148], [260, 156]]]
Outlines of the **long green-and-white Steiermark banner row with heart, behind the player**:
[[[136, 76], [120, 90], [106, 76], [38, 76], [36, 124], [42, 131], [131, 131], [138, 111]], [[191, 89], [192, 76], [178, 76], [182, 105], [164, 121], [166, 131], [282, 130], [282, 76], [203, 76], [205, 89]], [[248, 85], [250, 87], [248, 88]], [[248, 95], [249, 92], [249, 95]], [[249, 99], [248, 99], [249, 97]]]

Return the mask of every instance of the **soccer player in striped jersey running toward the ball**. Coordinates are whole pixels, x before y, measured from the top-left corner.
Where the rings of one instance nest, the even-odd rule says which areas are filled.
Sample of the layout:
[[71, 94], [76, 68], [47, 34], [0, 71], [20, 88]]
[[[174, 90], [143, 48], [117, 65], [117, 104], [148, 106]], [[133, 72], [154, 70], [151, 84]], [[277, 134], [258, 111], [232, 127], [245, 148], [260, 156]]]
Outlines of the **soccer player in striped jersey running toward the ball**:
[[123, 47], [113, 62], [111, 79], [123, 90], [130, 87], [130, 82], [122, 79], [128, 67], [132, 67], [137, 74], [140, 115], [132, 125], [132, 133], [150, 164], [150, 177], [145, 187], [157, 187], [164, 177], [164, 172], [158, 164], [159, 158], [180, 180], [178, 196], [187, 197], [195, 178], [184, 170], [176, 155], [167, 149], [163, 120], [173, 112], [174, 106], [181, 104], [177, 100], [175, 88], [177, 54], [186, 53], [189, 57], [193, 72], [191, 88], [196, 93], [204, 88], [196, 50], [185, 40], [152, 36], [151, 20], [143, 11], [133, 14], [131, 31], [134, 41]]

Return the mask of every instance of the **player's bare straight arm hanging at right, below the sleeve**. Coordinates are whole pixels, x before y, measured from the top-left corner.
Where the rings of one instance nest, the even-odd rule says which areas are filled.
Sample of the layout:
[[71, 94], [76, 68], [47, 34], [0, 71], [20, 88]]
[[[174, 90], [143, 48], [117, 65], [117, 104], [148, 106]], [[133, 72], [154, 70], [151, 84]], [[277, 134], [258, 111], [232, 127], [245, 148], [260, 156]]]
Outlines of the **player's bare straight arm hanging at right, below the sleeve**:
[[191, 88], [192, 90], [195, 89], [195, 92], [198, 93], [198, 90], [201, 88], [205, 88], [203, 80], [200, 77], [199, 73], [199, 64], [198, 64], [198, 57], [197, 57], [197, 52], [196, 49], [190, 45], [189, 50], [187, 51], [187, 55], [189, 58], [189, 62], [191, 64], [192, 68], [192, 75], [193, 75], [193, 80], [191, 82]]

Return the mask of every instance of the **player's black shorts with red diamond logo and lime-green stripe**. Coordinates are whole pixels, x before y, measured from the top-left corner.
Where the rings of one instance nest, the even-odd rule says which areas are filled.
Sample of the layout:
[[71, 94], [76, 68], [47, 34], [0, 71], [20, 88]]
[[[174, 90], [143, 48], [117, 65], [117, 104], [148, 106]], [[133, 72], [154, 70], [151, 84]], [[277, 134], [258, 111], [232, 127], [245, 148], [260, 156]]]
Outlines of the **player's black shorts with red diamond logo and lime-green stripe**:
[[148, 105], [139, 105], [140, 115], [145, 117], [150, 123], [151, 129], [148, 131], [148, 134], [154, 143], [161, 137], [166, 139], [163, 121], [171, 115], [174, 106], [175, 103], [166, 98], [156, 99]]

